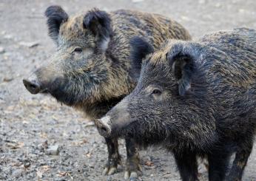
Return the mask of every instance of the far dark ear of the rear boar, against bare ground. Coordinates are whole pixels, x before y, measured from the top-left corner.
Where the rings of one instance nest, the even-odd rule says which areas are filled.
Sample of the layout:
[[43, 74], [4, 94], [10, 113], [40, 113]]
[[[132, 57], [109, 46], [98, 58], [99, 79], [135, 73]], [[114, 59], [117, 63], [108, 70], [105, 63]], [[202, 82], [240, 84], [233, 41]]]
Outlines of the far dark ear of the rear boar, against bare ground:
[[50, 6], [45, 11], [47, 17], [48, 32], [53, 41], [57, 42], [61, 24], [68, 19], [67, 13], [59, 6]]

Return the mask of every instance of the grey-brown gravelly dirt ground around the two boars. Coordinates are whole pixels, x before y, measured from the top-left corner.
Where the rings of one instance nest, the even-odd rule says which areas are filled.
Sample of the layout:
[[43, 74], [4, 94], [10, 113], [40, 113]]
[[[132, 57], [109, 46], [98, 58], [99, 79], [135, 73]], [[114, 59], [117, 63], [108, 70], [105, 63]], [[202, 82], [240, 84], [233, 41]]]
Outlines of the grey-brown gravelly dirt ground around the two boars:
[[[107, 147], [92, 122], [53, 98], [30, 95], [22, 84], [55, 51], [43, 15], [50, 4], [70, 14], [92, 7], [161, 13], [194, 37], [234, 27], [256, 29], [255, 0], [0, 0], [0, 180], [124, 180], [123, 166], [118, 174], [101, 175]], [[125, 159], [124, 142], [120, 145]], [[141, 164], [140, 180], [180, 179], [172, 154], [161, 148], [141, 151]], [[202, 164], [200, 173], [206, 180]], [[243, 180], [256, 180], [256, 151]]]

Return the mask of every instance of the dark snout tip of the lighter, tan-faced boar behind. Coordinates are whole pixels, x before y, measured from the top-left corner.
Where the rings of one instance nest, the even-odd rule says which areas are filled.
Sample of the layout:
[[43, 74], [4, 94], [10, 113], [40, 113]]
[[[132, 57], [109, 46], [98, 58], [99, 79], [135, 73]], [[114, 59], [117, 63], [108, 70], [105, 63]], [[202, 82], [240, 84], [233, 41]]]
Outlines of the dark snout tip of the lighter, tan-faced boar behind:
[[38, 81], [36, 75], [31, 75], [29, 78], [23, 79], [24, 86], [33, 95], [41, 92], [41, 83]]

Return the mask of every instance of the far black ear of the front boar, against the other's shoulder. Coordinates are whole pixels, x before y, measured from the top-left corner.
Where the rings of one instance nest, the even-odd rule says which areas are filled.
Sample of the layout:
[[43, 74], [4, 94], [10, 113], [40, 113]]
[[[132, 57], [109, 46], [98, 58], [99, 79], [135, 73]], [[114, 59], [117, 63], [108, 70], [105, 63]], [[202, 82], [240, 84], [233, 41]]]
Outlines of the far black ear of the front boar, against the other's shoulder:
[[132, 75], [135, 75], [136, 78], [139, 77], [141, 72], [141, 63], [146, 55], [154, 52], [154, 47], [152, 47], [149, 42], [147, 42], [144, 38], [139, 36], [134, 36], [129, 41], [131, 50], [130, 57], [131, 65], [132, 65]]

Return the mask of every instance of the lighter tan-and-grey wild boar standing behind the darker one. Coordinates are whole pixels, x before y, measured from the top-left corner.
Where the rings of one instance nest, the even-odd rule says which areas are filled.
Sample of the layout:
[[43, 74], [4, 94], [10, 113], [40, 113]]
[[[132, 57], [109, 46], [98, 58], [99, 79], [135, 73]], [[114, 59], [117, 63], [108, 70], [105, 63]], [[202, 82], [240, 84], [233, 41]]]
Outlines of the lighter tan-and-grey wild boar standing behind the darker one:
[[[59, 102], [95, 120], [115, 106], [134, 89], [141, 62], [129, 58], [129, 39], [145, 37], [158, 47], [165, 38], [190, 39], [185, 28], [164, 16], [132, 10], [107, 13], [90, 10], [69, 17], [58, 6], [48, 7], [45, 15], [50, 37], [57, 52], [24, 79], [24, 86], [32, 93], [48, 93]], [[146, 54], [146, 49], [145, 52]], [[113, 174], [121, 161], [118, 140], [106, 139], [109, 157], [104, 174]], [[140, 169], [137, 148], [126, 139], [126, 177]]]

